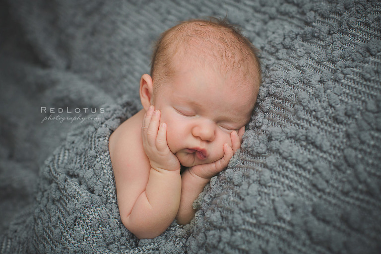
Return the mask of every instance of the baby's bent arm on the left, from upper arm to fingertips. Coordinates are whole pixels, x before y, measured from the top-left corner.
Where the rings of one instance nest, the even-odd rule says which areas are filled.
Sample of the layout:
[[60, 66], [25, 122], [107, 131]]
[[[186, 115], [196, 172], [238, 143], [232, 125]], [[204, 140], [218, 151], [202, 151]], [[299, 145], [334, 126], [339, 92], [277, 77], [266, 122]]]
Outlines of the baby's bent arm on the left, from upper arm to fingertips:
[[119, 153], [119, 158], [129, 158], [125, 163], [113, 163], [122, 222], [140, 239], [156, 237], [168, 228], [180, 203], [180, 163], [168, 148], [166, 125], [159, 127], [159, 121], [160, 112], [153, 108], [143, 117], [141, 141], [149, 163], [141, 168], [134, 162], [147, 160], [133, 157], [132, 150], [139, 147], [129, 148], [132, 155]]

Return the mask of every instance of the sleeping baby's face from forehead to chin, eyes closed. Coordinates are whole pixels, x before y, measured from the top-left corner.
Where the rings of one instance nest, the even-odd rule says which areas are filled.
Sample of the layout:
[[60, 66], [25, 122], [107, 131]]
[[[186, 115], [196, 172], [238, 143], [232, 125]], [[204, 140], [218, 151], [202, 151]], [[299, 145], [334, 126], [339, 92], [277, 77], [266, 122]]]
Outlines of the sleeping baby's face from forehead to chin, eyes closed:
[[235, 88], [236, 75], [220, 75], [210, 67], [184, 64], [153, 98], [167, 124], [170, 150], [183, 166], [214, 162], [223, 157], [223, 145], [232, 145], [232, 131], [250, 120], [256, 94], [253, 88]]

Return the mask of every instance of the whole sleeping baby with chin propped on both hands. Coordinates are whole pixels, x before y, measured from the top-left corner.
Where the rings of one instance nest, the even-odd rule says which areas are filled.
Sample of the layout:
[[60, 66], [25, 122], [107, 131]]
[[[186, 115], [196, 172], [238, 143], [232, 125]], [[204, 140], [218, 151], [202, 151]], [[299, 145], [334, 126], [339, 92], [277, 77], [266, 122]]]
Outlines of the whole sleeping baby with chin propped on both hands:
[[[140, 79], [143, 109], [110, 136], [123, 224], [154, 238], [177, 220], [241, 147], [261, 80], [257, 50], [225, 21], [165, 31]], [[184, 170], [181, 170], [183, 168]]]

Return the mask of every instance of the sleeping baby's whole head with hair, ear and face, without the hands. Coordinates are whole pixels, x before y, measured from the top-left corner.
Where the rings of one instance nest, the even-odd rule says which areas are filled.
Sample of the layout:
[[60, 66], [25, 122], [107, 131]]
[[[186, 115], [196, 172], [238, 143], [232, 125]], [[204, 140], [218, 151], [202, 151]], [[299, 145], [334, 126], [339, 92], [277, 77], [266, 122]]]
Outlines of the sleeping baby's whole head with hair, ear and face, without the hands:
[[231, 132], [243, 134], [261, 80], [257, 50], [225, 21], [190, 20], [165, 31], [140, 80], [147, 110], [167, 124], [167, 143], [183, 166], [220, 159]]

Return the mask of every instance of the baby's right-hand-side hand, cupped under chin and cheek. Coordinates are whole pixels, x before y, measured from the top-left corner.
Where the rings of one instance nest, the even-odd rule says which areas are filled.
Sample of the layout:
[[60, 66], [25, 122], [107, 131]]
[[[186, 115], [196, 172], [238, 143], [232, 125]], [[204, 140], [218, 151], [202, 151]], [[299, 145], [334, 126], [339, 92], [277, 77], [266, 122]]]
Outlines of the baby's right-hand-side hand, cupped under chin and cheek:
[[233, 131], [230, 134], [232, 147], [230, 147], [228, 143], [224, 144], [224, 156], [221, 159], [215, 162], [193, 166], [189, 169], [190, 173], [201, 178], [210, 179], [218, 172], [226, 168], [233, 154], [237, 151], [237, 149], [241, 147], [242, 136], [244, 135], [244, 132], [245, 127], [242, 127], [238, 130], [238, 133], [237, 131]]

